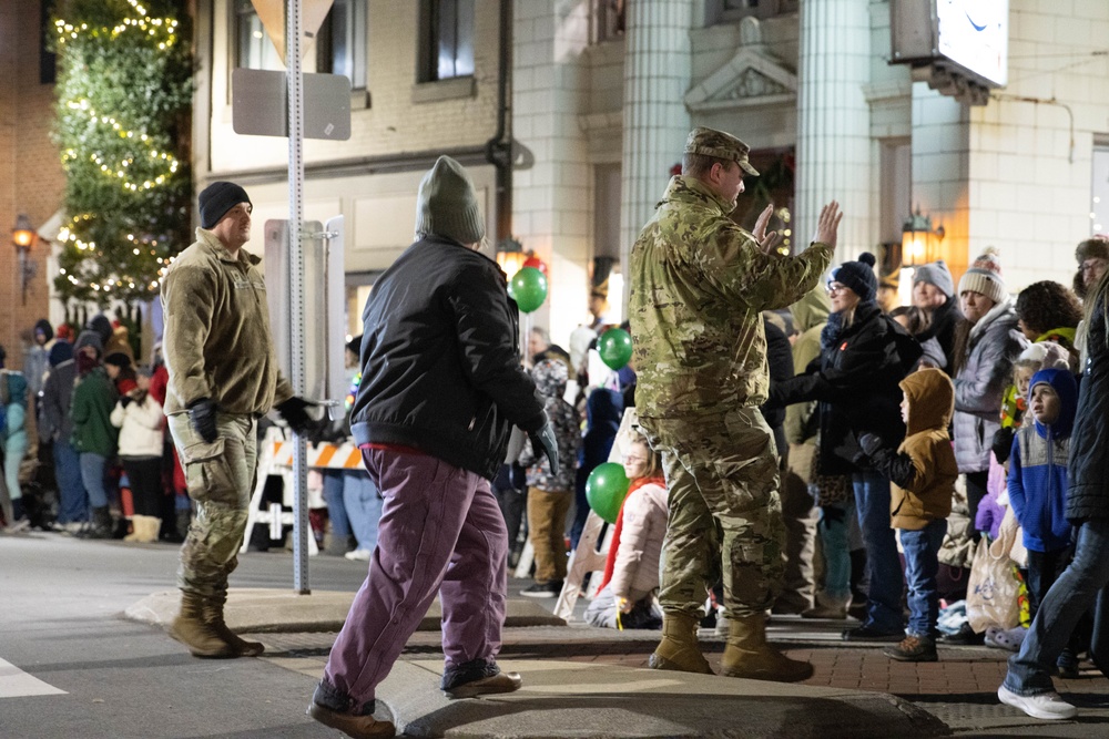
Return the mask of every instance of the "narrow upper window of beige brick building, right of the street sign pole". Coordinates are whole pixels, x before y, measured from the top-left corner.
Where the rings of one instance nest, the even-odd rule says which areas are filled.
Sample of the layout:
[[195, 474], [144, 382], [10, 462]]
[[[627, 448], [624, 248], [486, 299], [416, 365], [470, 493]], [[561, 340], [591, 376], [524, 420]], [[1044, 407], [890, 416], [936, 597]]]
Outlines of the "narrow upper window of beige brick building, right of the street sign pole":
[[474, 0], [425, 0], [420, 82], [474, 74]]

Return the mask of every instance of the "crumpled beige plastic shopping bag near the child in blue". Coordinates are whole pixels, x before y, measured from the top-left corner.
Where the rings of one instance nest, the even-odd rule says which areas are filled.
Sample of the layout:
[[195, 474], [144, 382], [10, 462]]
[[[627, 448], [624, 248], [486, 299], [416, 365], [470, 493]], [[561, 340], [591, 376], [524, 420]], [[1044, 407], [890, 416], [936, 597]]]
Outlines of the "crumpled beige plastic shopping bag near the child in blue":
[[1009, 558], [1014, 533], [1011, 528], [1003, 531], [993, 543], [983, 536], [975, 550], [967, 585], [967, 620], [977, 634], [989, 626], [1010, 629], [1020, 620], [1020, 574]]

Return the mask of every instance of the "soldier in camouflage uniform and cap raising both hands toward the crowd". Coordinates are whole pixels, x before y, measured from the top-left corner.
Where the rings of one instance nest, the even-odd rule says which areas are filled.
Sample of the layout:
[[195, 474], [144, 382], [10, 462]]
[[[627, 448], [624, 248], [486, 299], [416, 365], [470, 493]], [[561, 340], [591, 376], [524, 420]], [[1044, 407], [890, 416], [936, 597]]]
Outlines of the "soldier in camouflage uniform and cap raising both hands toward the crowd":
[[[840, 224], [833, 202], [798, 256], [774, 250], [771, 206], [753, 233], [729, 218], [743, 176], [759, 173], [739, 138], [694, 129], [682, 174], [631, 252], [629, 315], [639, 384], [635, 408], [662, 453], [670, 493], [655, 669], [711, 673], [696, 642], [709, 587], [724, 581], [730, 619], [722, 674], [801, 680], [812, 666], [765, 642], [781, 587], [784, 527], [774, 440], [759, 406], [770, 376], [761, 311], [784, 308], [827, 268]], [[723, 555], [723, 556], [722, 556]]]

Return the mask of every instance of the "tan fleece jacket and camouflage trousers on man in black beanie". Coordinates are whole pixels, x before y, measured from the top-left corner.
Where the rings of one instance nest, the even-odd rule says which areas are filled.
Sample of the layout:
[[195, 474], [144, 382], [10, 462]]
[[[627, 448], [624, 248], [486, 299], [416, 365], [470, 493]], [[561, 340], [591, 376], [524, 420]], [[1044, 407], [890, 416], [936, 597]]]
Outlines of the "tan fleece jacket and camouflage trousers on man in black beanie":
[[[177, 585], [204, 597], [225, 597], [238, 563], [257, 474], [257, 418], [293, 396], [277, 369], [260, 261], [245, 249], [232, 256], [197, 228], [162, 281], [165, 412], [196, 509]], [[214, 442], [189, 420], [186, 409], [201, 398], [220, 408]]]

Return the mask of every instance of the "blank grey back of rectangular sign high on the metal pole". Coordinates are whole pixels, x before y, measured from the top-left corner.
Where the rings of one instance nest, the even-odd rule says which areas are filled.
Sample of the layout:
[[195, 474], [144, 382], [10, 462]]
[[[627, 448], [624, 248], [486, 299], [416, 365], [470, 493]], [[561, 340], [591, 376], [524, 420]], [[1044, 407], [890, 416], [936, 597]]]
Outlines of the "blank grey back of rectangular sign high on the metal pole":
[[[305, 74], [304, 137], [350, 137], [350, 80], [342, 74]], [[274, 70], [236, 69], [231, 74], [232, 126], [253, 136], [288, 136], [288, 83]]]

